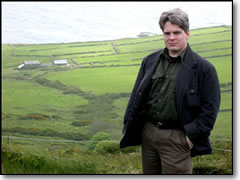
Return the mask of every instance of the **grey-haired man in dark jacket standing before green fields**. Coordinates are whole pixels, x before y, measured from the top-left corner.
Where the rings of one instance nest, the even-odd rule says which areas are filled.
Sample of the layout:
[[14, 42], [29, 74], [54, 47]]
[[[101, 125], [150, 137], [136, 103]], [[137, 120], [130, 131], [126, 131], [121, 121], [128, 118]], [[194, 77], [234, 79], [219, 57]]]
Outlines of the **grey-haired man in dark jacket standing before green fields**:
[[192, 157], [212, 152], [209, 135], [220, 106], [212, 64], [193, 52], [188, 15], [159, 20], [165, 49], [145, 57], [124, 116], [120, 147], [142, 144], [144, 174], [191, 174]]

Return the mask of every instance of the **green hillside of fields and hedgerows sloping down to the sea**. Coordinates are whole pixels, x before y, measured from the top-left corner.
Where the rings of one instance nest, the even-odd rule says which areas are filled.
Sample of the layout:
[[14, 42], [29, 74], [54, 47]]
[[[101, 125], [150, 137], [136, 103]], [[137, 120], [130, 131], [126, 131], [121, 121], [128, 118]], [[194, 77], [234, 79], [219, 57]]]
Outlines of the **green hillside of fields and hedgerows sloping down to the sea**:
[[[214, 64], [221, 85], [213, 154], [193, 159], [194, 174], [232, 174], [232, 27], [190, 34], [191, 48]], [[163, 47], [161, 35], [2, 44], [2, 172], [141, 174], [140, 147], [118, 148], [123, 115], [142, 59]], [[17, 69], [56, 59], [70, 65]]]

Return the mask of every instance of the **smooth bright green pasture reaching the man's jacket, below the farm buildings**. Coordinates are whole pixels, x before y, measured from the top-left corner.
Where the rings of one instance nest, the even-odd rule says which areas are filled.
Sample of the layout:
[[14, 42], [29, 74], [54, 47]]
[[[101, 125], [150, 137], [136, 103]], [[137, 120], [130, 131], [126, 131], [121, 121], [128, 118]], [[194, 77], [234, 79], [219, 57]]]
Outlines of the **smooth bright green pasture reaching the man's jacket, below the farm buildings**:
[[46, 78], [63, 84], [78, 87], [96, 95], [123, 93], [132, 90], [139, 67], [84, 68], [72, 71], [51, 73]]

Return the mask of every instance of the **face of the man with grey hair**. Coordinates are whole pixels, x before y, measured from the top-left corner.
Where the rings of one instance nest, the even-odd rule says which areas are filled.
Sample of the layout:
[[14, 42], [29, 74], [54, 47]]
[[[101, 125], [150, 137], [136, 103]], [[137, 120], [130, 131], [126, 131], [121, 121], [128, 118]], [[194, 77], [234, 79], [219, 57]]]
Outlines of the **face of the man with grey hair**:
[[178, 56], [187, 47], [189, 32], [185, 32], [178, 25], [169, 21], [164, 25], [164, 42], [169, 50], [169, 55]]

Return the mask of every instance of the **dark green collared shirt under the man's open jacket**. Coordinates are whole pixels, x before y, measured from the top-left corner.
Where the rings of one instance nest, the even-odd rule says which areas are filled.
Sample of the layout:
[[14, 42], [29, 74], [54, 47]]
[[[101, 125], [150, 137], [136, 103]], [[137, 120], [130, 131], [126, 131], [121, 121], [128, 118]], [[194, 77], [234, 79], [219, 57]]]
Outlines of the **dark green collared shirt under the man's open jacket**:
[[176, 76], [186, 49], [176, 58], [168, 55], [165, 48], [151, 79], [147, 98], [148, 119], [163, 124], [179, 123], [176, 110]]

